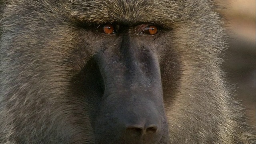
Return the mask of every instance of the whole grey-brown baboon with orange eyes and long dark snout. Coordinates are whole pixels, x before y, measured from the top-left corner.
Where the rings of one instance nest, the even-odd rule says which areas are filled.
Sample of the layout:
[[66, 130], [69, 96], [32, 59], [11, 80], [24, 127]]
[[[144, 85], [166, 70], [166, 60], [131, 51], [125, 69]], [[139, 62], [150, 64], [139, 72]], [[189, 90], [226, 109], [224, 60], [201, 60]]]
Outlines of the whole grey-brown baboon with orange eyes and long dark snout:
[[253, 144], [212, 0], [1, 1], [2, 144]]

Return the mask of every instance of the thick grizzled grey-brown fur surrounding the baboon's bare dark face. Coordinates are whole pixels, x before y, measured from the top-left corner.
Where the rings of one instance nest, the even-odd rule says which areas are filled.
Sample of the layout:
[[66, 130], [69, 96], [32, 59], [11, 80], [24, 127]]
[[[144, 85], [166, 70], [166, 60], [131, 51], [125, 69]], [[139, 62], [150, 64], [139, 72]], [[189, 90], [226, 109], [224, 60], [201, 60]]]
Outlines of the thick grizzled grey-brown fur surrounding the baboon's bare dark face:
[[99, 40], [75, 23], [142, 22], [171, 28], [152, 44], [165, 46], [169, 143], [254, 144], [220, 70], [226, 36], [215, 9], [210, 0], [1, 1], [1, 143], [93, 143], [90, 102], [73, 101], [69, 86]]

